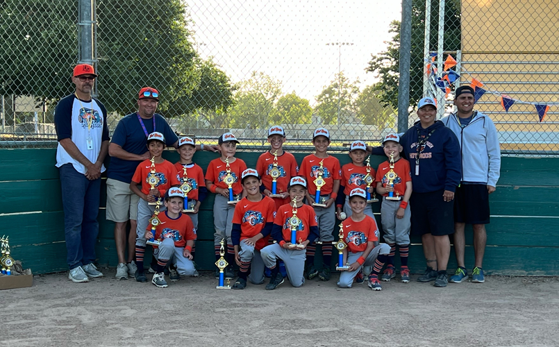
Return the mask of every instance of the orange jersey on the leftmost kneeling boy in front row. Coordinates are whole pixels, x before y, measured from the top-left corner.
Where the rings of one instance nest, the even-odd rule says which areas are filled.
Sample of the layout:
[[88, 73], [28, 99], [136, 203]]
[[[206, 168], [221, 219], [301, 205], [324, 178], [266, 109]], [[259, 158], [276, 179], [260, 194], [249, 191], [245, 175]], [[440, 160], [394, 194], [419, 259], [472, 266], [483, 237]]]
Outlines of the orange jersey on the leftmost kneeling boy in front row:
[[[184, 248], [187, 240], [197, 238], [192, 219], [187, 214], [181, 213], [177, 219], [172, 219], [167, 216], [167, 211], [165, 211], [158, 217], [161, 223], [156, 228], [155, 239], [174, 239], [175, 247]], [[151, 225], [148, 225], [146, 230], [151, 231]], [[157, 248], [157, 246], [153, 246], [153, 248]]]

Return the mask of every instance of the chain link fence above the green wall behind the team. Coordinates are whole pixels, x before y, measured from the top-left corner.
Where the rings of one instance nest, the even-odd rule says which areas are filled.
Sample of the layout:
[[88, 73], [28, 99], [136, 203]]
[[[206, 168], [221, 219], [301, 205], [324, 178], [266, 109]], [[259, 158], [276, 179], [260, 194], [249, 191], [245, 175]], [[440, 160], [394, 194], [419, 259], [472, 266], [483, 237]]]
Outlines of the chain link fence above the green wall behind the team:
[[[445, 105], [442, 117], [453, 111], [453, 90], [473, 85], [476, 110], [495, 122], [503, 153], [559, 153], [553, 1], [411, 1], [408, 124], [422, 96]], [[0, 1], [0, 147], [56, 144], [53, 110], [73, 91], [80, 56], [78, 2]], [[281, 124], [290, 149], [305, 149], [325, 126], [343, 150], [397, 130], [399, 1], [92, 7], [95, 94], [111, 130], [135, 111], [146, 85], [160, 91], [158, 112], [177, 133], [206, 143], [230, 130], [243, 149], [261, 150], [267, 128]]]

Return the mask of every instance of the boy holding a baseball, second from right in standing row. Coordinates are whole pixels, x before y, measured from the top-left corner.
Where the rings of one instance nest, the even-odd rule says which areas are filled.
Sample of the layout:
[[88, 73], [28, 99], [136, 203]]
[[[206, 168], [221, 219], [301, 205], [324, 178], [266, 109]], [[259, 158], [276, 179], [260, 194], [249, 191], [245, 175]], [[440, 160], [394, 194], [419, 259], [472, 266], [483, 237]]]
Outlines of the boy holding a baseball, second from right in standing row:
[[[355, 188], [367, 189], [367, 183], [365, 183], [365, 176], [367, 176], [367, 166], [365, 165], [365, 158], [367, 158], [367, 146], [365, 142], [355, 141], [349, 147], [349, 158], [351, 162], [345, 164], [342, 167], [342, 182], [340, 183], [340, 194], [337, 194], [336, 199], [336, 214], [337, 219], [340, 221], [351, 216], [351, 207], [349, 206], [349, 192]], [[375, 170], [371, 168], [369, 173], [371, 178], [375, 178]], [[369, 193], [373, 194], [374, 187], [369, 188]], [[342, 208], [343, 212], [346, 214], [342, 218]], [[374, 218], [373, 208], [371, 203], [367, 203], [365, 208], [365, 214], [367, 216]]]

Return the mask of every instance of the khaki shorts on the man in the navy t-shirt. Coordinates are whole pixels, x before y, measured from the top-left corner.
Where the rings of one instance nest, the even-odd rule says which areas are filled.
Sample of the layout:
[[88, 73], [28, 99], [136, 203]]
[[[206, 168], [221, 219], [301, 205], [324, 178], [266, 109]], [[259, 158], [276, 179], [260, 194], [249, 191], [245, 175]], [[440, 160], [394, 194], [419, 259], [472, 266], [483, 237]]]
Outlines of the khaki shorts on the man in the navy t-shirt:
[[119, 180], [107, 179], [107, 210], [106, 216], [109, 221], [122, 223], [137, 219], [137, 196], [130, 190], [130, 184]]

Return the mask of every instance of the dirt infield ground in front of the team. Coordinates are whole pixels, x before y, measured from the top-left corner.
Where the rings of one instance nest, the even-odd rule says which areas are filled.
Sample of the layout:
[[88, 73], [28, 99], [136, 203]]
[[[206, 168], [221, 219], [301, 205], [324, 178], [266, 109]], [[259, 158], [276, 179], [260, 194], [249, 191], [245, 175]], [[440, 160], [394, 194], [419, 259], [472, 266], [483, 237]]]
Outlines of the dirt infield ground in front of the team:
[[299, 289], [218, 291], [210, 273], [158, 289], [103, 272], [85, 284], [60, 273], [0, 291], [0, 346], [559, 345], [558, 278], [390, 282], [373, 292], [338, 289], [334, 275]]

